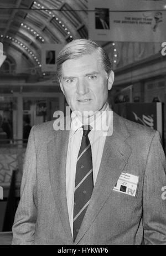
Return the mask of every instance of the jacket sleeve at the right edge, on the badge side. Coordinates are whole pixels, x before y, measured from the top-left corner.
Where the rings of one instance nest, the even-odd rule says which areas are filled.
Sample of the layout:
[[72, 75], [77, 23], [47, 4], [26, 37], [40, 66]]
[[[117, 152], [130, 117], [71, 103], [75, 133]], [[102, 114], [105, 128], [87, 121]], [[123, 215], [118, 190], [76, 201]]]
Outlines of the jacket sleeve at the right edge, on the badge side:
[[156, 131], [149, 148], [143, 188], [145, 244], [166, 244], [166, 161]]

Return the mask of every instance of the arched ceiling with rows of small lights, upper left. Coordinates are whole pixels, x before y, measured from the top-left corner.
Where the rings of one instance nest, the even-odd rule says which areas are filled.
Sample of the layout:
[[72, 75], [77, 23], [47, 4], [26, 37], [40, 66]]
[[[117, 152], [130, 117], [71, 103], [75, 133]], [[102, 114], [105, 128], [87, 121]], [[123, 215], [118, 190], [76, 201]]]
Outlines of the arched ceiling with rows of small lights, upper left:
[[87, 38], [87, 25], [87, 0], [0, 1], [0, 41], [6, 55], [13, 48], [31, 66], [41, 66], [43, 43]]

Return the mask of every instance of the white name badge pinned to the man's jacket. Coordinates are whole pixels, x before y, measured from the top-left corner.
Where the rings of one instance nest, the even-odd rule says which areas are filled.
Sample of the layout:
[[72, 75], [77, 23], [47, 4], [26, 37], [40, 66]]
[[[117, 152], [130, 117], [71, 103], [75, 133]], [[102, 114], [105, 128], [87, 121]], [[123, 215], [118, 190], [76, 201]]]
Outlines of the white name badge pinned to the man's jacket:
[[135, 197], [137, 192], [138, 181], [138, 176], [122, 172], [113, 190], [123, 194], [129, 194], [129, 196]]

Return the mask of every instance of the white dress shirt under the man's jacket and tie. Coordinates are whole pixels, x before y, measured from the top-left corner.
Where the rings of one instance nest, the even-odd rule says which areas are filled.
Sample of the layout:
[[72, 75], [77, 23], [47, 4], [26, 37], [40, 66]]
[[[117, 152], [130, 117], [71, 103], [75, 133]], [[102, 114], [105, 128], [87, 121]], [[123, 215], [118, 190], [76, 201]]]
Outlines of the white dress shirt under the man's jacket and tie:
[[[89, 133], [89, 140], [92, 150], [92, 164], [94, 185], [96, 182], [98, 170], [101, 163], [101, 157], [105, 140], [107, 136], [108, 127], [110, 126], [110, 107], [107, 104], [105, 111], [98, 111], [96, 119], [90, 122], [92, 130]], [[109, 117], [109, 118], [108, 118]], [[77, 118], [74, 112], [71, 113], [71, 129], [68, 143], [68, 153], [66, 160], [66, 197], [68, 203], [69, 221], [71, 233], [73, 235], [73, 211], [74, 211], [74, 190], [75, 190], [75, 173], [77, 156], [79, 154], [81, 140], [83, 135], [82, 122]], [[102, 128], [102, 129], [101, 129]]]

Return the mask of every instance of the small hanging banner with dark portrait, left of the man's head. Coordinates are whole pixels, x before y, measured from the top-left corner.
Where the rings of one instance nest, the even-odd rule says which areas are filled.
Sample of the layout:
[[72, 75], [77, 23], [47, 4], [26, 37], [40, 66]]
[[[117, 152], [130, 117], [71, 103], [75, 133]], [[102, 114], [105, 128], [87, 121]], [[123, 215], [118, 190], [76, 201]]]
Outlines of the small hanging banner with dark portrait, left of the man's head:
[[42, 45], [42, 71], [43, 72], [56, 71], [56, 58], [62, 48], [63, 48], [62, 44], [43, 44]]

